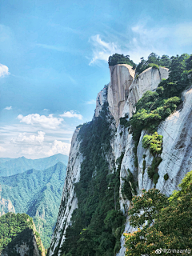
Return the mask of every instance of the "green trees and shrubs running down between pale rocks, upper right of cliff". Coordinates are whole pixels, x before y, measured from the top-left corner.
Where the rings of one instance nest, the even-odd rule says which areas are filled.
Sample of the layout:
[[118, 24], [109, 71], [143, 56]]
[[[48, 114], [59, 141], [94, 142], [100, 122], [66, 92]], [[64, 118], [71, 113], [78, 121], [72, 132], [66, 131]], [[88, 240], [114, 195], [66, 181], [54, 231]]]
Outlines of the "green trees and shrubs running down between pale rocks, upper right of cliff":
[[[164, 57], [163, 57], [164, 56]], [[128, 116], [120, 119], [120, 124], [125, 127], [129, 127], [130, 133], [133, 133], [133, 138], [135, 142], [134, 153], [135, 153], [135, 166], [137, 167], [137, 146], [141, 132], [143, 129], [147, 130], [150, 135], [146, 135], [142, 142], [144, 147], [150, 148], [150, 152], [154, 155], [154, 161], [148, 169], [148, 174], [150, 178], [154, 180], [154, 184], [158, 182], [158, 164], [162, 161], [159, 157], [162, 150], [162, 138], [159, 142], [155, 142], [152, 139], [149, 142], [149, 138], [155, 137], [155, 132], [158, 128], [160, 122], [165, 120], [171, 113], [176, 110], [179, 104], [182, 103], [181, 94], [182, 91], [190, 86], [192, 81], [192, 54], [182, 54], [181, 56], [168, 58], [163, 55], [159, 58], [156, 54], [150, 54], [145, 65], [151, 64], [153, 62], [155, 65], [162, 60], [164, 66], [168, 66], [170, 69], [169, 78], [162, 79], [159, 83], [156, 91], [146, 91], [142, 98], [137, 102], [136, 112], [127, 121]], [[142, 62], [144, 60], [142, 59]], [[140, 63], [140, 64], [141, 64]], [[140, 65], [138, 64], [138, 66]], [[146, 67], [145, 66], [145, 67]], [[138, 67], [137, 67], [138, 68]], [[153, 135], [152, 135], [153, 134]], [[151, 137], [152, 136], [152, 137]], [[158, 138], [160, 134], [156, 134]], [[147, 141], [149, 144], [147, 144]]]

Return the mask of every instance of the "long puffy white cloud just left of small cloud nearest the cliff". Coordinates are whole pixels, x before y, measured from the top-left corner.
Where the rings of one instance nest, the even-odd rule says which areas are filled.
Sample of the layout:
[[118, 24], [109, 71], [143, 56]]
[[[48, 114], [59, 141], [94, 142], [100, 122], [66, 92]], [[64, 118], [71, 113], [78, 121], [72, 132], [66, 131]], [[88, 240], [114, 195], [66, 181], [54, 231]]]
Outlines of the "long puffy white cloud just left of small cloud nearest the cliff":
[[40, 114], [28, 114], [24, 117], [22, 114], [18, 115], [20, 122], [25, 122], [28, 125], [38, 124], [43, 128], [56, 129], [62, 123], [63, 118], [54, 118], [53, 114], [49, 114], [47, 117]]

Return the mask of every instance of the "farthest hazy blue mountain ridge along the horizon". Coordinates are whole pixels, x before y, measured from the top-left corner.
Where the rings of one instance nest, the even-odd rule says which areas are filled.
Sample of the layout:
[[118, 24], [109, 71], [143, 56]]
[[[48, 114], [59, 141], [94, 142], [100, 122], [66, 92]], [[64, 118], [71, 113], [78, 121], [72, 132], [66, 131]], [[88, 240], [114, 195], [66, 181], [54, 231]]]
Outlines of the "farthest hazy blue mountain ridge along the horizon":
[[21, 158], [0, 158], [0, 176], [11, 176], [21, 174], [26, 170], [45, 170], [54, 166], [57, 162], [67, 165], [68, 156], [63, 154], [54, 154], [49, 158], [27, 159]]

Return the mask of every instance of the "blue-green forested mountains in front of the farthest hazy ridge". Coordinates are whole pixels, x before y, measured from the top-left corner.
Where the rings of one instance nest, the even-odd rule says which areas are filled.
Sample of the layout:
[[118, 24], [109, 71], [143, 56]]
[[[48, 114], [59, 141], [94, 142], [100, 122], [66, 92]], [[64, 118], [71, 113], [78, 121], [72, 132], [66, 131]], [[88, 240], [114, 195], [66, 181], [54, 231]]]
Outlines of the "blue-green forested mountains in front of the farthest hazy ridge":
[[34, 218], [43, 245], [48, 247], [58, 215], [66, 166], [58, 162], [46, 170], [26, 170], [0, 177], [0, 214], [26, 213]]

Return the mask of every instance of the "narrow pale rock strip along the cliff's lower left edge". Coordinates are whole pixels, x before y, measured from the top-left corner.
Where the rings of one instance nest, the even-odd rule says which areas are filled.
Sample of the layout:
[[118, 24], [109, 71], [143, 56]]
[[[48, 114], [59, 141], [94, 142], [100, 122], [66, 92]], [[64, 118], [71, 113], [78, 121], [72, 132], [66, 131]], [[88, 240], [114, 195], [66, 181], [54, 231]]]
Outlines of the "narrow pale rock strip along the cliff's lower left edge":
[[74, 131], [71, 141], [69, 162], [66, 169], [66, 180], [62, 191], [62, 202], [58, 212], [58, 220], [54, 229], [54, 234], [50, 242], [50, 252], [48, 255], [61, 255], [59, 246], [65, 240], [67, 226], [70, 225], [71, 214], [78, 207], [78, 198], [74, 193], [74, 183], [80, 179], [82, 154], [79, 151], [78, 141], [79, 128]]

